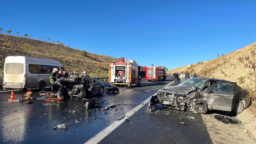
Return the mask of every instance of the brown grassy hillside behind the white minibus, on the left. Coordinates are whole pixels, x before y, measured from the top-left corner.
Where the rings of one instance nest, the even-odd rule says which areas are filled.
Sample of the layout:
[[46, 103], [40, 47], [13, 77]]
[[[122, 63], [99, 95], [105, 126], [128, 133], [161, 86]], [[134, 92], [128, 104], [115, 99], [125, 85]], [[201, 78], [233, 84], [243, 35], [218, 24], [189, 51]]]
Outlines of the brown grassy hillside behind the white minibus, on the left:
[[108, 73], [108, 67], [111, 60], [121, 61], [118, 58], [108, 57], [87, 53], [87, 56], [81, 54], [81, 50], [73, 49], [59, 44], [53, 44], [46, 41], [39, 41], [19, 36], [10, 36], [0, 34], [0, 72], [3, 73], [4, 60], [7, 56], [20, 55], [28, 57], [47, 58], [59, 61], [70, 73], [77, 70], [79, 73], [100, 72], [99, 76], [105, 76]]

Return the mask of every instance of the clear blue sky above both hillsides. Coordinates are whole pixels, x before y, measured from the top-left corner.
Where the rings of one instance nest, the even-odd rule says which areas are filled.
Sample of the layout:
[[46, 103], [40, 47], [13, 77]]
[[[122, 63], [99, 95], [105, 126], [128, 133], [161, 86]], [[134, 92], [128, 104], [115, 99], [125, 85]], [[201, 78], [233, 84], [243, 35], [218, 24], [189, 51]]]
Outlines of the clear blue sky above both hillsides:
[[0, 1], [0, 27], [169, 70], [256, 42], [256, 1]]

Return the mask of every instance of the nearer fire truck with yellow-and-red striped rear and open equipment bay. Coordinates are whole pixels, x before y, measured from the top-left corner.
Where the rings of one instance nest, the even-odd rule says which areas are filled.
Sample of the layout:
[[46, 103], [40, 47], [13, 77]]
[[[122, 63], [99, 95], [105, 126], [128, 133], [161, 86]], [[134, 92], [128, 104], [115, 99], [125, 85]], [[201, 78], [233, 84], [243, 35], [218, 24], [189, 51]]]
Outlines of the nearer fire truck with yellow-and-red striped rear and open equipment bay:
[[141, 78], [145, 78], [145, 66], [122, 57], [121, 62], [111, 61], [108, 76], [110, 84], [134, 86], [140, 84]]

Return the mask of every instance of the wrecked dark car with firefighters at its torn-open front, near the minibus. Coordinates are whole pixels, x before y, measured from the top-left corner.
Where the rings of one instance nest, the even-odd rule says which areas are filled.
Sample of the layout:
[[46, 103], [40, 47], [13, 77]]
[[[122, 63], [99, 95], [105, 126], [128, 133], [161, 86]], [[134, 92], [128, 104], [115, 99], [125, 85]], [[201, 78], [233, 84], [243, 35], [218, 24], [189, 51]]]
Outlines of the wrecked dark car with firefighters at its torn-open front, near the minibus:
[[[83, 82], [79, 76], [71, 76], [58, 79], [55, 84], [57, 88], [57, 95], [60, 97], [90, 99], [93, 95], [103, 95], [104, 85], [97, 79]], [[91, 89], [89, 89], [91, 87]]]

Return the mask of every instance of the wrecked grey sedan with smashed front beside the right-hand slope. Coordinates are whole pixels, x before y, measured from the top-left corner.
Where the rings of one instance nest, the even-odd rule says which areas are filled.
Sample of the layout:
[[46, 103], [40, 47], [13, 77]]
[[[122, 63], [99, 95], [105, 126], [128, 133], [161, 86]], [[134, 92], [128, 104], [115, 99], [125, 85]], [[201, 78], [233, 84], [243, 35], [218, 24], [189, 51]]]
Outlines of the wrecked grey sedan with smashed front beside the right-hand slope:
[[195, 78], [165, 87], [152, 95], [148, 109], [154, 111], [158, 105], [200, 114], [206, 113], [207, 109], [239, 114], [249, 105], [249, 99], [247, 91], [242, 91], [236, 82]]

